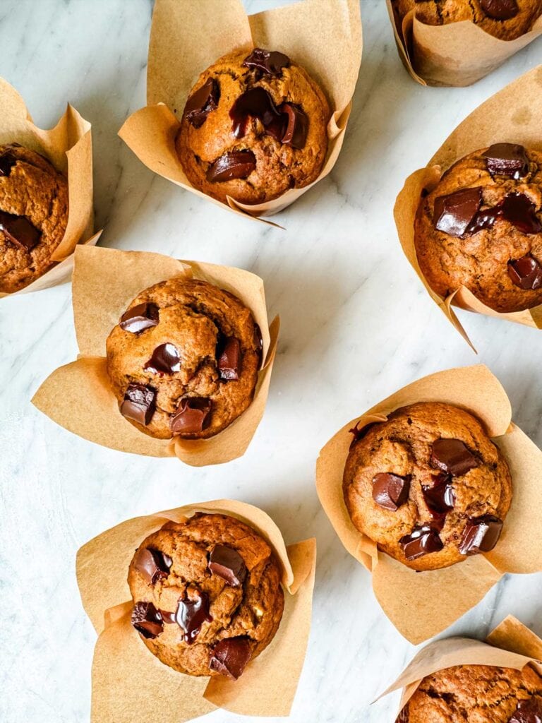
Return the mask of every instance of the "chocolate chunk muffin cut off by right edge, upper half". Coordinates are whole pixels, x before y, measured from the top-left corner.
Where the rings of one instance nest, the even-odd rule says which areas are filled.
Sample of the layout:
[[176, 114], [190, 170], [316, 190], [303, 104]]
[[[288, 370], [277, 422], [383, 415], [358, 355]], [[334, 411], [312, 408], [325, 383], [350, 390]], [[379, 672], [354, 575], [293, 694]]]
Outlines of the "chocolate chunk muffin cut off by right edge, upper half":
[[457, 161], [416, 214], [416, 255], [440, 296], [465, 286], [496, 312], [542, 303], [542, 153], [497, 143]]

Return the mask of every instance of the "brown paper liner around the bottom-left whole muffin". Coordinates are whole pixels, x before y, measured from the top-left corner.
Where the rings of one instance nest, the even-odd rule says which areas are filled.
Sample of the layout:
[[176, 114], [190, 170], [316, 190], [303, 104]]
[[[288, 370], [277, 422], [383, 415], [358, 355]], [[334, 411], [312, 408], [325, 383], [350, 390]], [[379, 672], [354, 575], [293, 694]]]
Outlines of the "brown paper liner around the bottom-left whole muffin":
[[[275, 638], [237, 681], [182, 675], [161, 663], [130, 624], [129, 563], [134, 549], [169, 520], [196, 512], [231, 515], [269, 542], [283, 571], [283, 620]], [[92, 681], [92, 723], [178, 723], [215, 707], [252, 716], [287, 716], [296, 693], [311, 625], [316, 540], [285, 546], [262, 510], [235, 500], [215, 500], [134, 518], [103, 532], [77, 552], [82, 604], [98, 641]], [[104, 576], [104, 570], [107, 575]], [[160, 690], [160, 696], [156, 696]], [[205, 697], [204, 697], [205, 696]]]

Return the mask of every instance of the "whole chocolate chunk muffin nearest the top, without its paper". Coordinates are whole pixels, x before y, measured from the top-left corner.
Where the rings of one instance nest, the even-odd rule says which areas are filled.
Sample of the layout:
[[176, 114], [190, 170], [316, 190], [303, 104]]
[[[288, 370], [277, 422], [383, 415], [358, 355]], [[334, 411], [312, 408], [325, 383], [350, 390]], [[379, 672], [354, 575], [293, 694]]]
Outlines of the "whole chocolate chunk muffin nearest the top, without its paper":
[[317, 179], [329, 120], [322, 89], [288, 56], [236, 51], [199, 76], [176, 149], [194, 188], [223, 202], [262, 203]]

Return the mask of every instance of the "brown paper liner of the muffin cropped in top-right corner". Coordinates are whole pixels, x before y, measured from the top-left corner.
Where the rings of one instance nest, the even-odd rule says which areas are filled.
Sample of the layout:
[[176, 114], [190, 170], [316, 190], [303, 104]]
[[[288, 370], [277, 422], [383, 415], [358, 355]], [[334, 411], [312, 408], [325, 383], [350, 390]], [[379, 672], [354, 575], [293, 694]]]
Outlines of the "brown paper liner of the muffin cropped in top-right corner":
[[386, 0], [400, 59], [420, 85], [463, 87], [489, 75], [542, 33], [542, 16], [515, 40], [501, 40], [470, 20], [426, 25], [411, 10], [397, 27], [392, 0]]

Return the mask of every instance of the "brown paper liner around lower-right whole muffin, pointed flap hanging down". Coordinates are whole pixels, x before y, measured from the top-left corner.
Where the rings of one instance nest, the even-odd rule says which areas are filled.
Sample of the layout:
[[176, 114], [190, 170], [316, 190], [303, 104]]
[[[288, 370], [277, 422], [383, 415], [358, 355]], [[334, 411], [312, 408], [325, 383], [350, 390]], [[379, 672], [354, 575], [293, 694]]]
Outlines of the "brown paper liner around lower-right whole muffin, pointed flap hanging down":
[[[398, 407], [442, 401], [471, 411], [504, 454], [514, 486], [501, 539], [486, 555], [474, 555], [443, 570], [417, 573], [384, 552], [353, 526], [343, 500], [343, 471], [358, 425], [382, 422]], [[511, 422], [507, 395], [487, 367], [463, 367], [423, 377], [392, 394], [327, 442], [317, 461], [317, 492], [335, 532], [350, 555], [372, 573], [374, 594], [397, 630], [411, 643], [440, 633], [474, 607], [504, 573], [542, 570], [538, 518], [542, 452]], [[529, 530], [529, 536], [522, 531]]]

